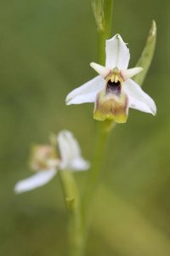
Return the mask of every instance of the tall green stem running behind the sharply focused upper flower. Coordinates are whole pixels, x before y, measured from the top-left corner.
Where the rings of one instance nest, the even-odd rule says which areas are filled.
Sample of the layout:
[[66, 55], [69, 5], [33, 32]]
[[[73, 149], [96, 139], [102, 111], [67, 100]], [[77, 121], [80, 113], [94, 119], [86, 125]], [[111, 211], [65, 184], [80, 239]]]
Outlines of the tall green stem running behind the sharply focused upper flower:
[[[105, 40], [110, 38], [113, 0], [93, 0], [94, 17], [98, 26], [98, 59], [99, 64], [105, 65]], [[85, 237], [88, 236], [90, 213], [94, 190], [98, 182], [99, 169], [105, 153], [107, 139], [110, 135], [112, 121], [96, 122], [96, 135], [92, 166], [89, 172], [88, 183], [85, 190], [82, 214]]]

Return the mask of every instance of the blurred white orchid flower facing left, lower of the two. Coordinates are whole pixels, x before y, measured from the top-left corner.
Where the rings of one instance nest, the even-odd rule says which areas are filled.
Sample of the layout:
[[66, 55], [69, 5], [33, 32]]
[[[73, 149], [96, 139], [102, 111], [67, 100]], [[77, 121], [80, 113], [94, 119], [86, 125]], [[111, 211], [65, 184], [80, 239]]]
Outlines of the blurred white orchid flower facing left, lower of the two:
[[[59, 155], [56, 146], [59, 147]], [[41, 187], [48, 183], [58, 170], [86, 171], [89, 166], [89, 162], [82, 158], [80, 146], [71, 131], [60, 131], [51, 145], [33, 148], [31, 168], [37, 173], [16, 183], [14, 191], [22, 193]]]

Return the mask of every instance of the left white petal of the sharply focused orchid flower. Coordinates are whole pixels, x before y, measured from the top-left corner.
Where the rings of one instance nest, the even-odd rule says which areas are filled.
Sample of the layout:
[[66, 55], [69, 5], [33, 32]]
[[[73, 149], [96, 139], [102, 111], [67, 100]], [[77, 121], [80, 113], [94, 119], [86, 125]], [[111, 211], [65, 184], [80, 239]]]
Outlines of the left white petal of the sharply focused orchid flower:
[[86, 102], [95, 102], [99, 90], [105, 88], [105, 79], [97, 76], [86, 84], [72, 90], [66, 97], [66, 105], [82, 104]]

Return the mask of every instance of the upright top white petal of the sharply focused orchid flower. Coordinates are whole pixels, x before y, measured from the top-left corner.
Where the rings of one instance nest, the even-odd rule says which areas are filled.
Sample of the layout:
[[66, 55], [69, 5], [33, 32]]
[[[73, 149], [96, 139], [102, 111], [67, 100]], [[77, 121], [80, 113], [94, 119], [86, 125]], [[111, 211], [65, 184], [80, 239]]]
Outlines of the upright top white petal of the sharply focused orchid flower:
[[127, 69], [130, 53], [119, 34], [116, 34], [110, 40], [106, 40], [105, 53], [105, 67]]

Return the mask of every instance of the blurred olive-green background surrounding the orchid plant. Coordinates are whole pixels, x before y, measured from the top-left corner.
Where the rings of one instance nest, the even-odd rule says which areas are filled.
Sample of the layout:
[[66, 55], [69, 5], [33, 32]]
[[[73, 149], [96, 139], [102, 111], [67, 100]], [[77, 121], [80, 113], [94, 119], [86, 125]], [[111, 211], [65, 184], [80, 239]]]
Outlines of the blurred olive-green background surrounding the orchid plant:
[[[157, 24], [157, 44], [143, 88], [156, 117], [130, 109], [111, 133], [94, 201], [88, 256], [170, 255], [170, 2], [115, 1], [111, 37], [119, 32], [139, 59]], [[66, 213], [59, 177], [14, 195], [29, 177], [31, 143], [73, 131], [86, 159], [94, 142], [94, 104], [65, 106], [65, 96], [96, 73], [97, 33], [90, 1], [0, 3], [0, 254], [65, 256]], [[90, 150], [89, 150], [90, 148]], [[77, 173], [82, 188], [87, 173]]]

